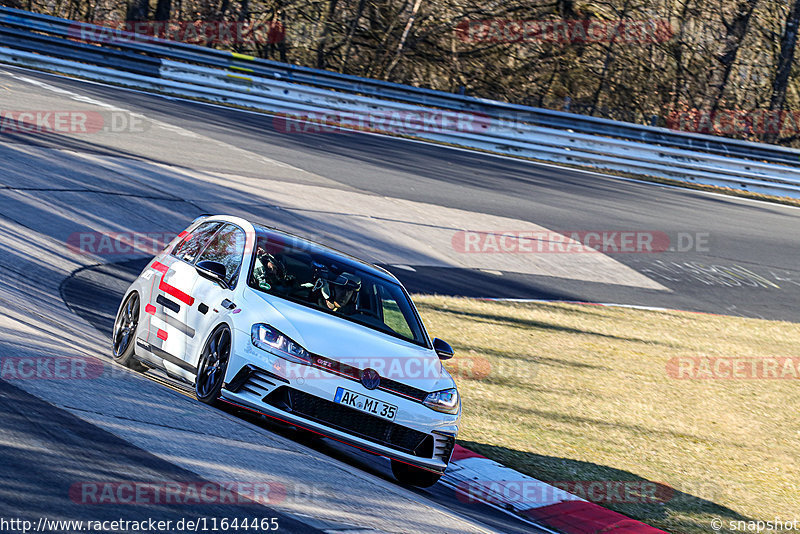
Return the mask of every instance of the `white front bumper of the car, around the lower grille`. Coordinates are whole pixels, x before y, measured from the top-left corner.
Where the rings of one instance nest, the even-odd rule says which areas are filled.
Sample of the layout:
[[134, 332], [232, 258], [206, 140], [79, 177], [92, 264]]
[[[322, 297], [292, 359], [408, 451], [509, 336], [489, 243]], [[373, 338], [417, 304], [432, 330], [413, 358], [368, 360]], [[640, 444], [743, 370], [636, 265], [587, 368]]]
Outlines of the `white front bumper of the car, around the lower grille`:
[[[299, 364], [287, 366], [285, 359], [254, 347], [248, 333], [237, 331], [233, 338], [221, 400], [428, 471], [447, 468], [460, 411], [440, 413], [417, 400], [367, 390], [325, 369], [298, 376], [291, 366]], [[335, 404], [340, 387], [397, 406], [394, 421]]]

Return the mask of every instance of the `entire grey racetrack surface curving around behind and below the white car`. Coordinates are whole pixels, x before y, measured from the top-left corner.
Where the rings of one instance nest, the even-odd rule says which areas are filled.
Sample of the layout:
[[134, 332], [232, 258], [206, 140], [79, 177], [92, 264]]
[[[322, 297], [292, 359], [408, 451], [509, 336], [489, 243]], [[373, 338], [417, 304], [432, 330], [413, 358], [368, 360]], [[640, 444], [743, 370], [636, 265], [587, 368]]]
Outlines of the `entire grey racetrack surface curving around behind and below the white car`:
[[[491, 508], [459, 503], [440, 487], [399, 487], [371, 459], [324, 442], [300, 443], [109, 364], [116, 304], [147, 254], [67, 246], [91, 232], [177, 232], [201, 213], [234, 213], [385, 264], [411, 291], [798, 320], [800, 222], [793, 208], [383, 136], [285, 132], [268, 116], [11, 68], [0, 68], [0, 109], [127, 113], [145, 125], [84, 135], [0, 133], [0, 356], [103, 365], [91, 381], [6, 376], [11, 385], [0, 384], [3, 467], [27, 497], [0, 499], [3, 516], [101, 518], [111, 510], [81, 506], [64, 488], [133, 472], [137, 480], [267, 478], [313, 487], [313, 499], [259, 507], [258, 515], [285, 514], [287, 531], [292, 518], [330, 532], [530, 529]], [[663, 232], [686, 250], [476, 256], [450, 245], [461, 230], [532, 226]], [[24, 403], [39, 417], [22, 413]], [[63, 432], [36, 420], [60, 421]], [[76, 451], [64, 446], [64, 435], [92, 446]], [[120, 453], [104, 465], [97, 462], [103, 451]], [[40, 457], [39, 469], [19, 467]], [[63, 471], [48, 469], [58, 463]]]

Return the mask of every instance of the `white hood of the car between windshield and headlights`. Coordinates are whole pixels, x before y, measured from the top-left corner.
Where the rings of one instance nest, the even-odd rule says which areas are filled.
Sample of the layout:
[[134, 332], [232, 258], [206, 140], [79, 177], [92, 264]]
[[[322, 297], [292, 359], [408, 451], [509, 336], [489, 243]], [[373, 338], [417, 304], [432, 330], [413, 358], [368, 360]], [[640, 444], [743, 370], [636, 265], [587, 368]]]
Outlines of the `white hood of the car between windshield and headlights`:
[[267, 323], [314, 354], [425, 391], [454, 386], [432, 349], [260, 291], [248, 292], [247, 309], [253, 324]]

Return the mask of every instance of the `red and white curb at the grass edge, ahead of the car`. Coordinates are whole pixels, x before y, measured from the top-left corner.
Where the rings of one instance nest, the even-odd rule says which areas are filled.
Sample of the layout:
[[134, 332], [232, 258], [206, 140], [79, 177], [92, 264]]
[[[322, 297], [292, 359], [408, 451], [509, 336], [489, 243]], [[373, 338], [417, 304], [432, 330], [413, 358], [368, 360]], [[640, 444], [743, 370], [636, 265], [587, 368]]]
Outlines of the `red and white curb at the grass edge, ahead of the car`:
[[564, 534], [667, 534], [456, 445], [443, 482], [465, 502], [503, 508]]

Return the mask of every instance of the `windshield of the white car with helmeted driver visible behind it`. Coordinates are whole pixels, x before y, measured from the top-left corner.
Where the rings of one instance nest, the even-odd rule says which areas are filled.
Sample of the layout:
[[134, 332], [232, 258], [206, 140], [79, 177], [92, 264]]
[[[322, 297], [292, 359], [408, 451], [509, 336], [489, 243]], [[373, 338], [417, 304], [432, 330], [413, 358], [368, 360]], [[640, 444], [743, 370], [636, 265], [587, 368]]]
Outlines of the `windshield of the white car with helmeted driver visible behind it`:
[[422, 324], [399, 284], [321, 248], [286, 241], [258, 236], [250, 287], [426, 346]]

